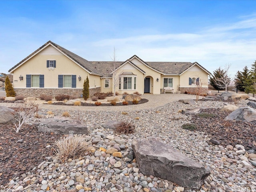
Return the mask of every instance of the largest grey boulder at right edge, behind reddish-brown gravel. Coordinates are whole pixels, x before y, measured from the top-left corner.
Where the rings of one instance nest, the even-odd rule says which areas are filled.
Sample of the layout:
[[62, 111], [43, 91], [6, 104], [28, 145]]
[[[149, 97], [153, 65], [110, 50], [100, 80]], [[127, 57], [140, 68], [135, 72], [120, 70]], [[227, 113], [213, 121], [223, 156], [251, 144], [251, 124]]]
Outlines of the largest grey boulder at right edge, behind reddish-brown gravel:
[[224, 120], [242, 120], [247, 122], [256, 122], [256, 110], [249, 106], [240, 107], [237, 110], [234, 110]]

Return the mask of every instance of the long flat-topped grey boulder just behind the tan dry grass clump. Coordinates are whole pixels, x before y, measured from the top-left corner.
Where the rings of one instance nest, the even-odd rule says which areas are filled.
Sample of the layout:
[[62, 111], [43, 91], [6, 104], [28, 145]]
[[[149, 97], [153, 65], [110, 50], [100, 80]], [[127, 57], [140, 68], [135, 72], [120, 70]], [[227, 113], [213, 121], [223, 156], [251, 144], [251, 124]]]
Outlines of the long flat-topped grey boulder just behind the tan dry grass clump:
[[86, 134], [88, 135], [87, 127], [82, 125], [79, 120], [57, 117], [47, 118], [36, 124], [39, 132], [56, 132], [60, 134]]

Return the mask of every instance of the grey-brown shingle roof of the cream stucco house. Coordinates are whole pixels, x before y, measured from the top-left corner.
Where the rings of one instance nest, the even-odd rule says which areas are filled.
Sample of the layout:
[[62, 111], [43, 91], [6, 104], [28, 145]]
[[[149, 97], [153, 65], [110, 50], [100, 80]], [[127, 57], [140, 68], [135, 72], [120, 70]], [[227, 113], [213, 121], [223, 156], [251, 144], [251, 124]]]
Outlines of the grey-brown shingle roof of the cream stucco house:
[[[91, 74], [95, 74], [98, 76], [103, 77], [111, 77], [111, 72], [114, 70], [113, 68], [113, 61], [88, 61], [73, 52], [63, 48], [62, 46], [59, 46], [58, 44], [55, 44], [51, 41], [48, 41], [46, 44], [38, 48], [36, 51], [34, 51], [32, 54], [24, 58], [21, 62], [16, 64], [14, 67], [12, 67], [10, 71], [12, 71], [14, 68], [22, 64], [24, 61], [26, 61], [28, 58], [33, 56], [36, 52], [40, 51], [45, 46], [48, 46], [48, 44], [52, 44], [55, 46], [58, 50], [62, 51], [66, 56], [68, 56], [70, 59], [74, 60], [77, 64], [82, 66], [85, 70], [90, 72]], [[204, 67], [202, 67], [197, 62], [191, 63], [191, 62], [144, 62], [142, 59], [140, 59], [138, 56], [134, 55], [132, 58], [138, 58], [140, 61], [142, 61], [144, 64], [149, 66], [150, 68], [153, 68], [154, 70], [162, 73], [162, 74], [172, 74], [172, 75], [180, 75], [182, 72], [193, 66], [194, 64], [197, 64], [202, 69], [204, 69], [208, 74], [211, 74], [208, 70], [206, 70]], [[128, 59], [128, 60], [130, 60]], [[126, 61], [128, 61], [126, 60]], [[126, 62], [125, 61], [125, 62]], [[120, 65], [124, 64], [125, 62], [116, 62], [116, 68], [118, 68]], [[134, 64], [135, 65], [135, 64]], [[136, 65], [135, 65], [136, 66]], [[138, 68], [138, 66], [136, 66]], [[140, 69], [140, 68], [138, 68]], [[142, 69], [140, 69], [142, 70]], [[143, 71], [143, 70], [142, 70]]]

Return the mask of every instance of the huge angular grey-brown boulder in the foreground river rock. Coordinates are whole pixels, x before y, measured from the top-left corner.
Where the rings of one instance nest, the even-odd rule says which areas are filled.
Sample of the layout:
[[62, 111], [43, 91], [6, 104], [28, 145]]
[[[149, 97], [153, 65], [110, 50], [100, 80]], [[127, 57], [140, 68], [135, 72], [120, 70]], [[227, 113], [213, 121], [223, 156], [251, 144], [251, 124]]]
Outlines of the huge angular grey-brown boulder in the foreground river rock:
[[132, 143], [140, 172], [199, 190], [210, 174], [203, 165], [165, 144], [160, 138], [150, 137]]

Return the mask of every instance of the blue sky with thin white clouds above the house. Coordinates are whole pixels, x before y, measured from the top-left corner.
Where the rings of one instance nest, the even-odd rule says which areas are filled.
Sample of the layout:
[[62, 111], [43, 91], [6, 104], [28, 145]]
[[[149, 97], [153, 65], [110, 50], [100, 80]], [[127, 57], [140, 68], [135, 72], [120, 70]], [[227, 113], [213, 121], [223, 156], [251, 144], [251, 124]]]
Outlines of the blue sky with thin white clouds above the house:
[[0, 72], [48, 40], [89, 61], [198, 62], [234, 75], [256, 60], [256, 1], [0, 0]]

